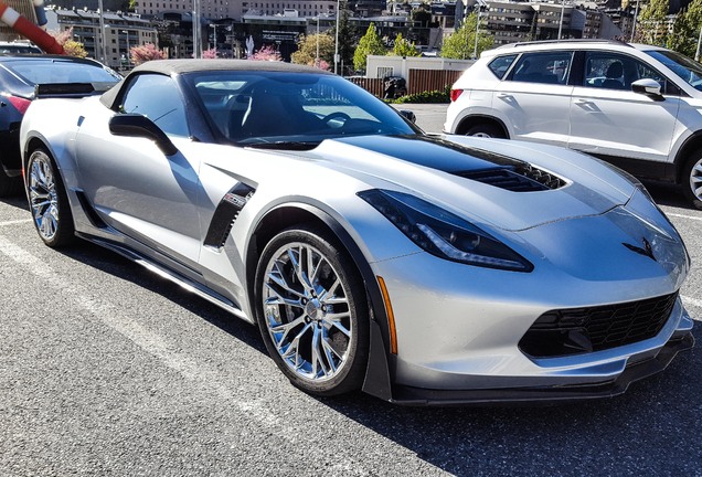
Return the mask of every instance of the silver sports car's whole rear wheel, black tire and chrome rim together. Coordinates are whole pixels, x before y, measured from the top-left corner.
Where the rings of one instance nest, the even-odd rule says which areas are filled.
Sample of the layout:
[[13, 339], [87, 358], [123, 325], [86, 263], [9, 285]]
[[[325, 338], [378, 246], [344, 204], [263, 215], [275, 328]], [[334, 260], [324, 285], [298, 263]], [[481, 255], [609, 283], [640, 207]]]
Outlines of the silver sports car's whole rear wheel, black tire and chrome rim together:
[[50, 247], [75, 239], [73, 214], [56, 163], [44, 149], [34, 150], [26, 163], [26, 191], [34, 226]]

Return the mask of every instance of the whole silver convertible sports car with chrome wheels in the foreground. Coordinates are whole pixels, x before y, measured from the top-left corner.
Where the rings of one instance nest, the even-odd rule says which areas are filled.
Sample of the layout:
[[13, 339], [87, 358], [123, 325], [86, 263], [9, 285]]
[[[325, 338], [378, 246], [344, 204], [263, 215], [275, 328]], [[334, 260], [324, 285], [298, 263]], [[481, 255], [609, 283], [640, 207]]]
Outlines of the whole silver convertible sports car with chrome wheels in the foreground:
[[610, 396], [692, 347], [690, 258], [640, 183], [406, 116], [319, 70], [149, 62], [32, 103], [32, 216], [49, 246], [97, 243], [255, 324], [318, 395]]

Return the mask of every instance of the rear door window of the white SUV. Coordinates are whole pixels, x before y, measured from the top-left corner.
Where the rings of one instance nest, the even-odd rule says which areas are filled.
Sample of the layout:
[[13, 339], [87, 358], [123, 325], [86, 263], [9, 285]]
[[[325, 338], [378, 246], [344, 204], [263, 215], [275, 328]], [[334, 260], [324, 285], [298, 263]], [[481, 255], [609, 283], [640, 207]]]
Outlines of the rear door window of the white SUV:
[[512, 68], [511, 81], [566, 84], [573, 52], [524, 53]]

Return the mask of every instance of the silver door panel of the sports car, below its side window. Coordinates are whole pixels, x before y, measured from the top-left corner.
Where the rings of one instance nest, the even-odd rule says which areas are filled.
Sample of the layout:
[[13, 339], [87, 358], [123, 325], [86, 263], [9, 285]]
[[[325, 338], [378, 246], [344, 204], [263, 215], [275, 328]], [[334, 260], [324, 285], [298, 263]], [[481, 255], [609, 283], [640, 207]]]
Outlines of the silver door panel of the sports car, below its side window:
[[[178, 138], [171, 139], [178, 145]], [[192, 263], [198, 261], [201, 237], [196, 157], [180, 151], [166, 157], [149, 139], [113, 136], [105, 118], [85, 118], [76, 136], [81, 183], [102, 219], [155, 250]]]

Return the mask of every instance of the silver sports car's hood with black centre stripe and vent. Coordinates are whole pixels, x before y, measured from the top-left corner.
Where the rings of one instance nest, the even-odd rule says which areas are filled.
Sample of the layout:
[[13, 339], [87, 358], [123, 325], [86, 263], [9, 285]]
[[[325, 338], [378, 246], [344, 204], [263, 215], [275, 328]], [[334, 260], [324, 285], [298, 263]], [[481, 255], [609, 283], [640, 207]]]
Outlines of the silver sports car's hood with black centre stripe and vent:
[[371, 187], [404, 189], [508, 231], [603, 214], [636, 186], [596, 159], [564, 148], [454, 136], [364, 136], [308, 152]]

